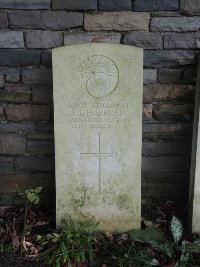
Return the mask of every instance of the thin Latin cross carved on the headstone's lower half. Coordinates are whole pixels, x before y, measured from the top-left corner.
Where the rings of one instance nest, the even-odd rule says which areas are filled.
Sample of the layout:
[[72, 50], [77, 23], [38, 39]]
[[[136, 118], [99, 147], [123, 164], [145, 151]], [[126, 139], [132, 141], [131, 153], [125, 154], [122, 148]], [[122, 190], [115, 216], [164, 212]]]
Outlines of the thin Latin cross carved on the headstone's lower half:
[[98, 157], [99, 159], [99, 170], [98, 170], [98, 177], [99, 177], [99, 192], [101, 193], [101, 159], [103, 156], [115, 156], [117, 157], [117, 153], [105, 153], [101, 151], [101, 134], [98, 135], [98, 152], [82, 152], [81, 155], [93, 155], [94, 157]]

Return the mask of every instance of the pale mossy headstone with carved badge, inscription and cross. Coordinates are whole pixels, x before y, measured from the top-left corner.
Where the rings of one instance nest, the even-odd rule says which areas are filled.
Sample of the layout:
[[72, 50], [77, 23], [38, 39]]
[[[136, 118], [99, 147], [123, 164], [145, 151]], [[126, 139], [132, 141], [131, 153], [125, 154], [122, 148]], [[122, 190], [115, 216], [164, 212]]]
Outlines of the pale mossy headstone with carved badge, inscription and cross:
[[57, 224], [140, 228], [143, 50], [53, 49]]

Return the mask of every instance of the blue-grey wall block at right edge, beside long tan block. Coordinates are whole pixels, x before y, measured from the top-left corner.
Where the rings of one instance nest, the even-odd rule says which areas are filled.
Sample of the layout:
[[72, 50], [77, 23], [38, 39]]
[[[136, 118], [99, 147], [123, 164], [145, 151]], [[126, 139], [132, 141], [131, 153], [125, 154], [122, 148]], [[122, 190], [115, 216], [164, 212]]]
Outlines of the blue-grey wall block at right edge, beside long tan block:
[[151, 20], [151, 31], [188, 32], [198, 31], [199, 17], [154, 17]]

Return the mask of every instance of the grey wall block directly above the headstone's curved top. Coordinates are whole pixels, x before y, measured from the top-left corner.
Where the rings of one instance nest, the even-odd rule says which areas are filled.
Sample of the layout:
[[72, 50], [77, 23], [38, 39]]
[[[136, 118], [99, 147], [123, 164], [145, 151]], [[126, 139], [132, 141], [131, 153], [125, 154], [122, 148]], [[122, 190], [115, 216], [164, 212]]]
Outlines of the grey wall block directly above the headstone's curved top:
[[113, 43], [120, 44], [121, 33], [119, 32], [67, 32], [64, 35], [64, 44], [81, 43]]

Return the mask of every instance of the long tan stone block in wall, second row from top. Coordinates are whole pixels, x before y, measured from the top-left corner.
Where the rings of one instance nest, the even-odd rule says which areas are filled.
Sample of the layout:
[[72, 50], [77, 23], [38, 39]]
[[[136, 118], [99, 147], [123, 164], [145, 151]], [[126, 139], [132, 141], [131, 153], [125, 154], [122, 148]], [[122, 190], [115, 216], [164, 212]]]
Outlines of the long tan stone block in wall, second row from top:
[[85, 14], [84, 28], [88, 31], [148, 31], [150, 15], [145, 12], [103, 12]]

